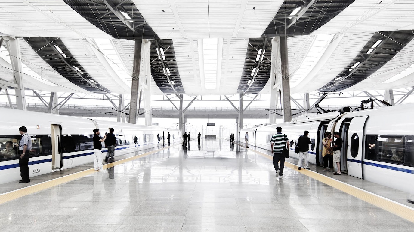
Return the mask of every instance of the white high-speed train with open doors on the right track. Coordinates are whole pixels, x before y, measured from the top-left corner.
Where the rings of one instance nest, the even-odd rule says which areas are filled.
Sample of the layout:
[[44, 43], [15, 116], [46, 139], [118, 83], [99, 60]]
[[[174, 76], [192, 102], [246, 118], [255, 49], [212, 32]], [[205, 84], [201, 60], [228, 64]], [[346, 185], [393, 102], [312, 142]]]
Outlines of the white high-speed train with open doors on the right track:
[[[322, 139], [326, 131], [341, 134], [341, 172], [380, 185], [413, 191], [414, 183], [414, 104], [345, 112], [337, 111], [299, 116], [290, 123], [264, 124], [239, 132], [250, 135], [249, 143], [270, 151], [270, 139], [276, 127], [282, 128], [291, 141], [290, 156], [298, 158], [294, 146], [305, 130], [312, 142], [310, 163], [323, 164]], [[333, 138], [333, 136], [332, 136]], [[335, 139], [335, 138], [334, 138]], [[335, 165], [334, 165], [335, 166]]]

